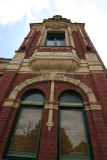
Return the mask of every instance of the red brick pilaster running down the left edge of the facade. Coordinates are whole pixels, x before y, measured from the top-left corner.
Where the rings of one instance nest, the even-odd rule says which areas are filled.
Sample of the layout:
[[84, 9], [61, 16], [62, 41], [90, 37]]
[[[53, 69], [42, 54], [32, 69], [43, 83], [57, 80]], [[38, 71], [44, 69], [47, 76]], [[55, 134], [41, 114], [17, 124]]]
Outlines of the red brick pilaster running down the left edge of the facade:
[[9, 123], [14, 117], [10, 117], [9, 120], [11, 107], [2, 107], [2, 103], [6, 98], [8, 91], [10, 90], [15, 76], [16, 72], [5, 72], [3, 77], [0, 79], [0, 157], [2, 157], [3, 155], [4, 148], [6, 146], [8, 135], [11, 129]]

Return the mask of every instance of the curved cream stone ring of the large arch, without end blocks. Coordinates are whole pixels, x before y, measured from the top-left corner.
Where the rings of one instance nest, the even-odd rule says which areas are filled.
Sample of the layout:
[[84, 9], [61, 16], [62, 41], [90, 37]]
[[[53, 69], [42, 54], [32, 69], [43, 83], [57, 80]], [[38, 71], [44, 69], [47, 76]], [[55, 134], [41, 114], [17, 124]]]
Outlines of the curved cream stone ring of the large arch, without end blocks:
[[[19, 92], [24, 89], [25, 87], [37, 83], [37, 82], [41, 82], [41, 81], [50, 81], [52, 78], [52, 75], [48, 74], [47, 76], [39, 76], [36, 78], [32, 78], [32, 79], [27, 79], [26, 81], [24, 81], [23, 83], [19, 84], [18, 86], [16, 86], [14, 88], [14, 90], [11, 92], [9, 98], [13, 98], [15, 99], [17, 97], [17, 95], [19, 94]], [[83, 84], [80, 80], [76, 80], [73, 78], [69, 78], [67, 76], [64, 75], [54, 75], [54, 81], [63, 81], [63, 82], [68, 82], [71, 83], [73, 85], [78, 86], [79, 88], [81, 88], [85, 93], [91, 93], [92, 90], [90, 88], [88, 88], [85, 84]], [[94, 94], [92, 94], [93, 96]], [[95, 97], [95, 96], [93, 96]], [[91, 97], [92, 98], [92, 97]], [[91, 101], [91, 98], [89, 97], [89, 101]]]

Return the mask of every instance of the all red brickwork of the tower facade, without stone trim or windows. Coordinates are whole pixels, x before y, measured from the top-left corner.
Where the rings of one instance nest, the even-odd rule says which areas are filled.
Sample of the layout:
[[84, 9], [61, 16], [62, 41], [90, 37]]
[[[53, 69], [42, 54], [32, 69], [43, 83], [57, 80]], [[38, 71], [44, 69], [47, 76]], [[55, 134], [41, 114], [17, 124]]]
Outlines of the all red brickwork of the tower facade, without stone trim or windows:
[[[95, 48], [90, 41], [85, 30], [82, 30], [86, 41], [88, 44], [91, 44], [92, 50], [95, 51]], [[30, 34], [30, 33], [29, 33]], [[36, 30], [32, 34], [29, 42], [26, 46], [26, 58], [30, 58], [35, 50], [35, 46], [40, 37], [40, 32]], [[28, 35], [29, 37], [29, 35]], [[27, 38], [28, 38], [27, 37]], [[83, 41], [83, 38], [80, 34], [80, 31], [73, 32], [74, 43], [77, 50], [79, 58], [85, 59], [84, 53], [86, 50], [86, 45]], [[26, 39], [25, 39], [26, 41]], [[23, 42], [23, 44], [25, 43]], [[19, 51], [20, 48], [19, 48]], [[69, 52], [72, 49], [38, 49], [40, 52]], [[97, 53], [96, 53], [97, 55]], [[98, 55], [97, 55], [98, 56]], [[99, 58], [99, 56], [98, 56]], [[99, 58], [100, 60], [100, 58]], [[5, 147], [9, 138], [9, 134], [14, 122], [16, 115], [16, 108], [2, 107], [3, 100], [8, 98], [12, 90], [24, 82], [27, 79], [35, 78], [39, 75], [36, 74], [18, 74], [16, 72], [5, 72], [3, 77], [0, 79], [0, 157], [2, 157]], [[91, 75], [68, 75], [71, 78], [80, 80], [82, 83], [86, 84], [89, 88], [92, 89], [95, 94], [97, 101], [102, 105], [103, 110], [92, 110], [86, 111], [86, 117], [88, 121], [88, 128], [90, 133], [90, 139], [92, 144], [92, 150], [94, 155], [94, 160], [107, 160], [107, 77], [105, 74], [91, 74]], [[3, 85], [5, 84], [5, 85]], [[17, 99], [21, 99], [24, 92], [29, 89], [36, 88], [42, 90], [46, 95], [46, 100], [50, 99], [50, 82], [38, 82], [34, 83], [25, 89], [23, 89]], [[77, 86], [74, 86], [65, 82], [55, 82], [55, 101], [58, 101], [58, 97], [61, 92], [64, 90], [76, 90], [79, 92], [84, 101], [87, 102], [88, 99], [81, 89]], [[53, 113], [53, 123], [54, 126], [49, 132], [46, 126], [48, 121], [48, 109], [44, 110], [43, 115], [43, 125], [42, 133], [40, 140], [40, 149], [39, 149], [39, 160], [57, 160], [57, 143], [58, 143], [58, 110], [54, 110]]]

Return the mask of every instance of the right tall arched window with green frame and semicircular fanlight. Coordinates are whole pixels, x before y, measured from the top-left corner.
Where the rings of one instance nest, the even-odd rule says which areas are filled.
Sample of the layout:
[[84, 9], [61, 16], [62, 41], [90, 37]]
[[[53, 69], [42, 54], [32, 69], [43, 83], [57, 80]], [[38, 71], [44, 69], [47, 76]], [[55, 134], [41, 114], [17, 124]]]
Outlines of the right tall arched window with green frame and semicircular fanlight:
[[82, 96], [64, 91], [59, 102], [59, 159], [91, 160]]

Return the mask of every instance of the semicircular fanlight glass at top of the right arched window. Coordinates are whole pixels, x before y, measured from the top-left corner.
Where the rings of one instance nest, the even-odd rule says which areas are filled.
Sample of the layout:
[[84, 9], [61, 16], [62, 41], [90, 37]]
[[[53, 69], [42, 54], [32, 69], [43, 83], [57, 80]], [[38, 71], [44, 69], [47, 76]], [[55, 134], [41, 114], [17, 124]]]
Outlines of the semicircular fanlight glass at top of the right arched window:
[[73, 94], [65, 94], [60, 98], [62, 103], [81, 103], [81, 100], [78, 96]]

